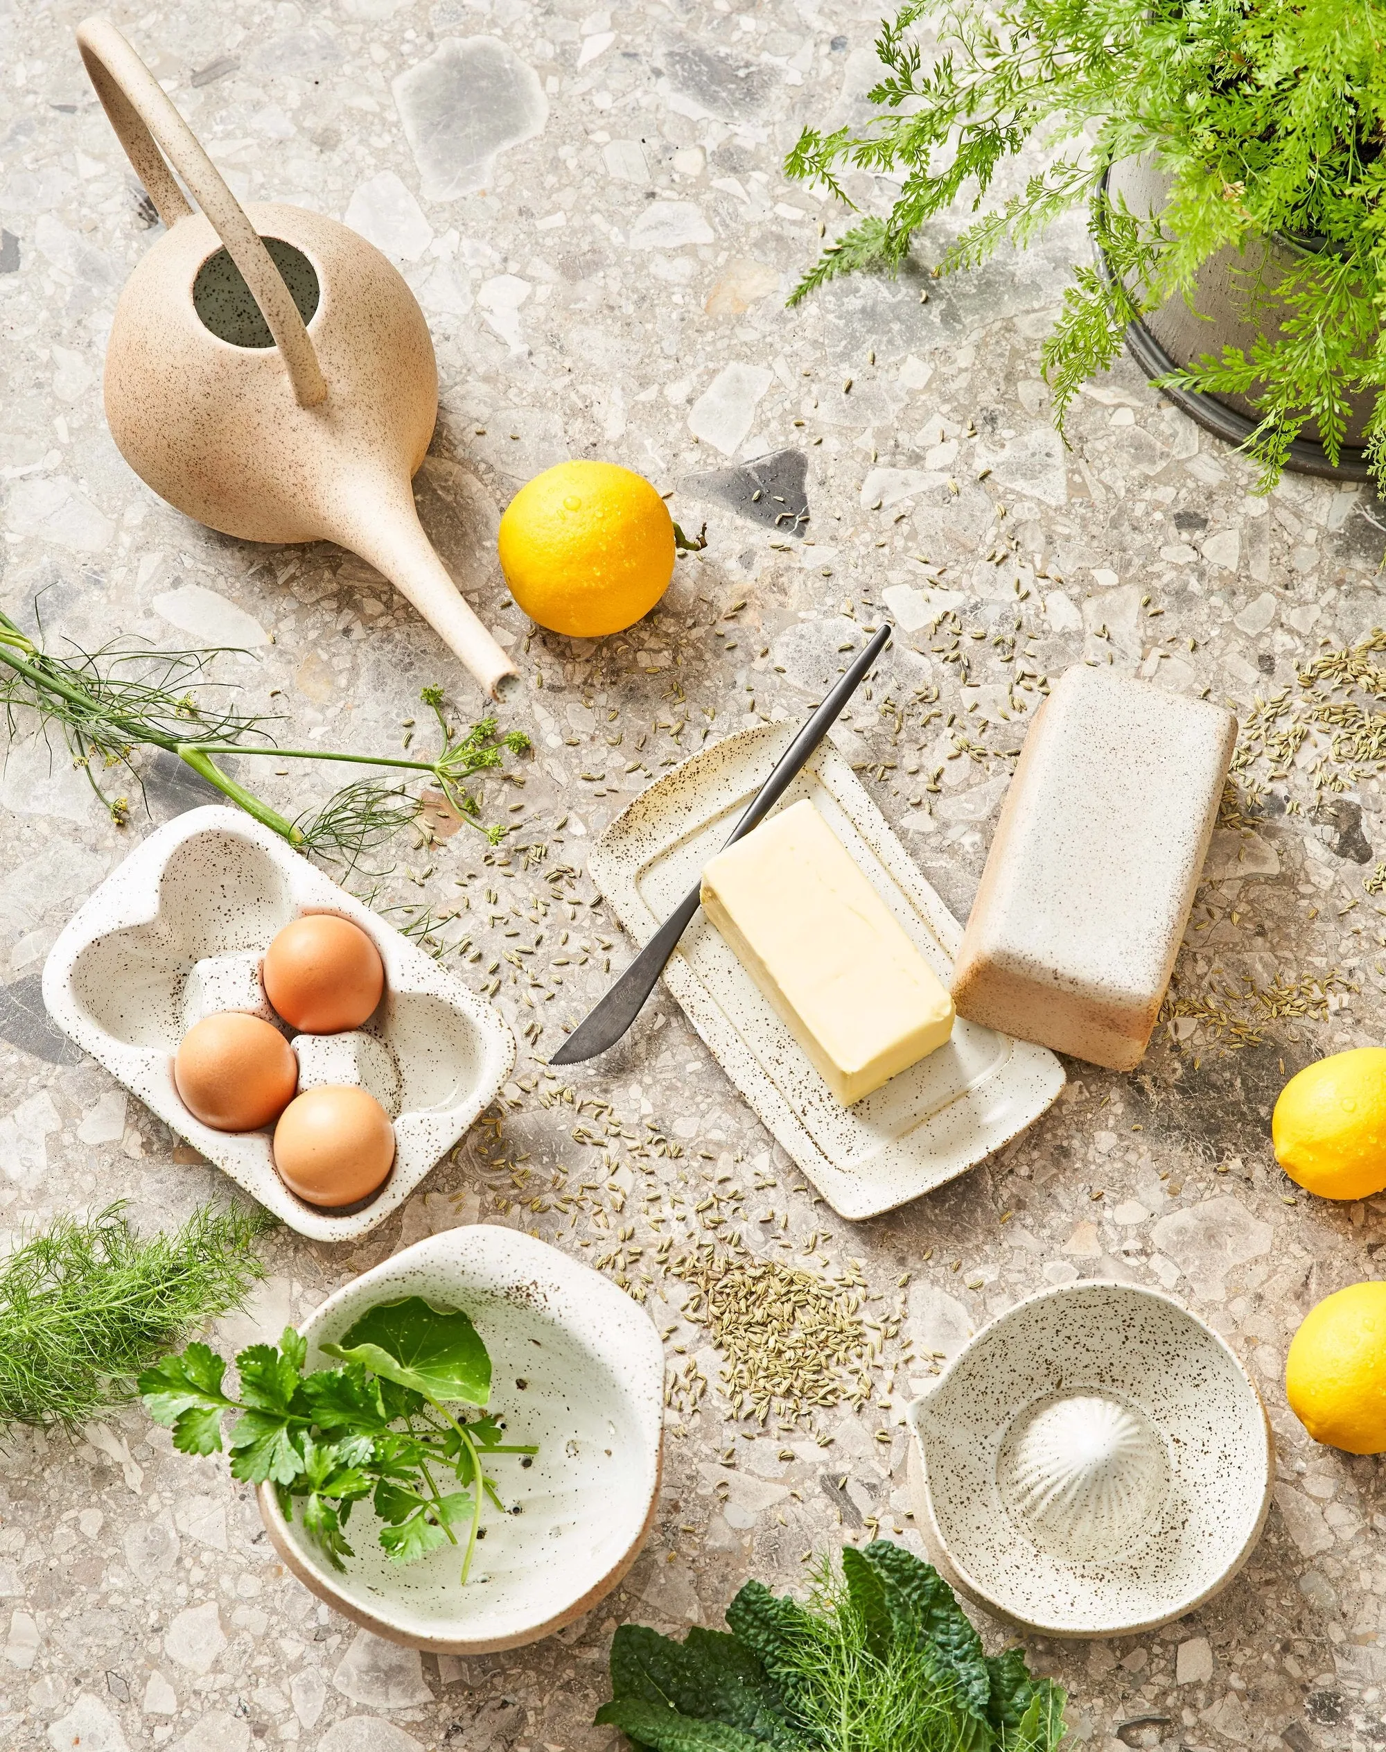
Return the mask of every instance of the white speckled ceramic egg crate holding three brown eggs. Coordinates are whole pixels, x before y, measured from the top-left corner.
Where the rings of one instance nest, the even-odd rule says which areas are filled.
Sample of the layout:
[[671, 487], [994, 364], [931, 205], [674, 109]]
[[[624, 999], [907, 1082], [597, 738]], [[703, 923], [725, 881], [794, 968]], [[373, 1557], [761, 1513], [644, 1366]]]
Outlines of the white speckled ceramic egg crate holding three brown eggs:
[[[217, 1011], [265, 1020], [259, 964], [305, 913], [336, 913], [380, 951], [385, 993], [361, 1028], [296, 1034], [300, 1091], [356, 1084], [394, 1127], [394, 1167], [345, 1214], [294, 1197], [266, 1127], [217, 1132], [173, 1086], [173, 1053]], [[356, 1240], [398, 1211], [477, 1120], [515, 1062], [510, 1027], [407, 937], [382, 923], [240, 809], [191, 809], [119, 865], [49, 953], [44, 1002], [58, 1027], [277, 1218], [314, 1240]]]

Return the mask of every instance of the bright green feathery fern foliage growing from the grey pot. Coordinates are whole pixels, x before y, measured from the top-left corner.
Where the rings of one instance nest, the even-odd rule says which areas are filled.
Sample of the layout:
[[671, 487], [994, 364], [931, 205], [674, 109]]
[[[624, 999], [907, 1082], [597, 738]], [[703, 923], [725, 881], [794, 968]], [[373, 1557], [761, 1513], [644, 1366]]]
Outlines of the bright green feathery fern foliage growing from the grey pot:
[[[871, 123], [808, 128], [787, 159], [790, 175], [843, 200], [845, 165], [904, 173], [899, 196], [887, 217], [827, 244], [790, 303], [850, 268], [894, 272], [920, 226], [958, 200], [978, 217], [941, 272], [1023, 249], [1088, 207], [1109, 272], [1074, 270], [1044, 347], [1062, 424], [1127, 324], [1188, 294], [1206, 261], [1297, 240], [1290, 266], [1242, 275], [1248, 314], [1277, 305], [1251, 354], [1204, 356], [1172, 380], [1253, 399], [1262, 419], [1248, 450], [1263, 487], [1305, 429], [1337, 457], [1349, 398], [1367, 396], [1368, 461], [1386, 484], [1382, 44], [1382, 0], [908, 0], [876, 42]], [[983, 210], [1030, 140], [1046, 168]], [[1106, 194], [1109, 166], [1139, 156], [1169, 177], [1160, 214], [1130, 214]]]

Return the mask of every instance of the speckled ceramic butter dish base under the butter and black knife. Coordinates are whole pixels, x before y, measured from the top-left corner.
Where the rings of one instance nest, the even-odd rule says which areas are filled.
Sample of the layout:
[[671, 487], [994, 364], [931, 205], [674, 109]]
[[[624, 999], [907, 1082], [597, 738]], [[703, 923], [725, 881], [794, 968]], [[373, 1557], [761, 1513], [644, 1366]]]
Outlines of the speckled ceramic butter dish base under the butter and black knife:
[[[636, 943], [654, 936], [718, 857], [796, 734], [794, 724], [757, 724], [708, 743], [629, 802], [598, 839], [587, 867]], [[783, 813], [801, 799], [946, 986], [962, 927], [831, 741], [785, 792]], [[1043, 1046], [958, 1020], [943, 1046], [845, 1107], [701, 909], [669, 957], [664, 983], [766, 1128], [832, 1209], [853, 1221], [965, 1174], [1064, 1088], [1064, 1067]]]

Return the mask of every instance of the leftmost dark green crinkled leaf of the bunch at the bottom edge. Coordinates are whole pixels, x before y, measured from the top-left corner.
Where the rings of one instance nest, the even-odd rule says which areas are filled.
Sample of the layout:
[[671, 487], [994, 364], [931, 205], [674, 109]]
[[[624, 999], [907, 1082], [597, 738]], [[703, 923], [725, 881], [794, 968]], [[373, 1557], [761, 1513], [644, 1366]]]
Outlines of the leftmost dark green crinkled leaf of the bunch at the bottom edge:
[[612, 1691], [725, 1722], [785, 1752], [799, 1745], [760, 1663], [734, 1636], [690, 1631], [678, 1643], [641, 1624], [622, 1624], [612, 1638]]

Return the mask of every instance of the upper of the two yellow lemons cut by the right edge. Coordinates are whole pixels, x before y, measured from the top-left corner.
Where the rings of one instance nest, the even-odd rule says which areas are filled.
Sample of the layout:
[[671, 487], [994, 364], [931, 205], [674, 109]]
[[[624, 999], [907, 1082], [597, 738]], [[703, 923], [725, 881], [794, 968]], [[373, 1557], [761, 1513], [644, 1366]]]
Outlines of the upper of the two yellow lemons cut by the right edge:
[[1276, 1160], [1321, 1198], [1386, 1188], [1386, 1048], [1358, 1046], [1305, 1065], [1270, 1118]]

